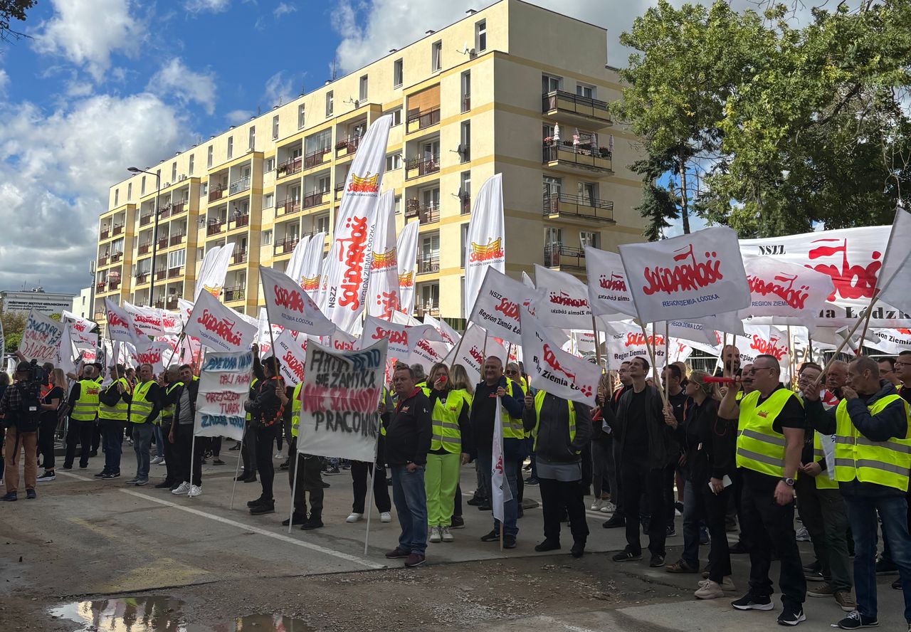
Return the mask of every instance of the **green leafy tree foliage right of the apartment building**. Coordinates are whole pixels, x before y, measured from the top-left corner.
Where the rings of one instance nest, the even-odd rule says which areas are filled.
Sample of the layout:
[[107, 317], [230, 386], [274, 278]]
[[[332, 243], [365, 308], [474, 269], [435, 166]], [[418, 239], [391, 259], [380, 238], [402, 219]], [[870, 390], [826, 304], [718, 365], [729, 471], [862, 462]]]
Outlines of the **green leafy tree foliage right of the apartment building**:
[[911, 185], [911, 3], [812, 15], [661, 0], [621, 36], [639, 52], [612, 108], [647, 156], [632, 168], [672, 202], [646, 196], [646, 234], [693, 213], [743, 237], [891, 222]]

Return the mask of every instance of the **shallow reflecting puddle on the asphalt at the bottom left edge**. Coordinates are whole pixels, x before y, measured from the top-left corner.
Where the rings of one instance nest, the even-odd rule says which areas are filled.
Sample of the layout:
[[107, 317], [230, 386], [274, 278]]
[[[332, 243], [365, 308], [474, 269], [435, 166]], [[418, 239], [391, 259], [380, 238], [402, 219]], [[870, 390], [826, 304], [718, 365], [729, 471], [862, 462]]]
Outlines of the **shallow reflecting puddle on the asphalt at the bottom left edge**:
[[[313, 632], [301, 619], [248, 615], [233, 621], [190, 621], [183, 602], [169, 596], [78, 601], [53, 608], [51, 617], [73, 621], [73, 632]], [[220, 618], [220, 617], [218, 617]]]

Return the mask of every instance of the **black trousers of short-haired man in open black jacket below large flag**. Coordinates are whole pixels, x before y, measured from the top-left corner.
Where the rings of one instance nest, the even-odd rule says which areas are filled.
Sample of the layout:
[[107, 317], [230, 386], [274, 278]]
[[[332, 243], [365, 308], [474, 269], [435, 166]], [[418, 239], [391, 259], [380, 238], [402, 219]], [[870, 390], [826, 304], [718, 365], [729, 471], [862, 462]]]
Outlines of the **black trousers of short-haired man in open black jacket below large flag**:
[[620, 464], [620, 490], [623, 494], [623, 514], [627, 516], [627, 550], [642, 553], [640, 543], [640, 496], [645, 494], [649, 506], [649, 551], [652, 556], [667, 555], [664, 541], [667, 539], [667, 494], [664, 488], [665, 469], [651, 469], [649, 464], [625, 459]]

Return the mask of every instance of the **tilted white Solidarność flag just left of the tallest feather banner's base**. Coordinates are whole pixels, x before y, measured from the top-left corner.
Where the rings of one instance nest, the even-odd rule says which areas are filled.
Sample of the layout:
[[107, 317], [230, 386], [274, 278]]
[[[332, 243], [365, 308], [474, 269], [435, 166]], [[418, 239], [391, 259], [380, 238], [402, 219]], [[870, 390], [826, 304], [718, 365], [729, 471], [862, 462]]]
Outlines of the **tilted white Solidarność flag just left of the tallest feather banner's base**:
[[335, 331], [335, 325], [322, 314], [310, 294], [291, 277], [260, 266], [260, 280], [266, 312], [273, 325], [314, 336], [327, 336]]

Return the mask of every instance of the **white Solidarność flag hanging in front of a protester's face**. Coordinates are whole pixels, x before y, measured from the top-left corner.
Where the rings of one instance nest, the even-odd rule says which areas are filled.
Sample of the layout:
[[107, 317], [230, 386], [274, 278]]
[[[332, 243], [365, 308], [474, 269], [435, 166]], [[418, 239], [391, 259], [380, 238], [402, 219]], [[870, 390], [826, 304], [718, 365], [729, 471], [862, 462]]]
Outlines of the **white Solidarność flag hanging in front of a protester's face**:
[[531, 386], [565, 400], [596, 405], [600, 367], [560, 349], [560, 343], [551, 340], [543, 323], [527, 310], [522, 310], [522, 353]]

